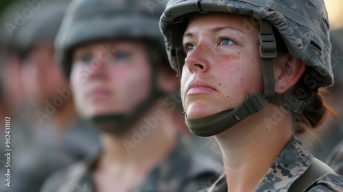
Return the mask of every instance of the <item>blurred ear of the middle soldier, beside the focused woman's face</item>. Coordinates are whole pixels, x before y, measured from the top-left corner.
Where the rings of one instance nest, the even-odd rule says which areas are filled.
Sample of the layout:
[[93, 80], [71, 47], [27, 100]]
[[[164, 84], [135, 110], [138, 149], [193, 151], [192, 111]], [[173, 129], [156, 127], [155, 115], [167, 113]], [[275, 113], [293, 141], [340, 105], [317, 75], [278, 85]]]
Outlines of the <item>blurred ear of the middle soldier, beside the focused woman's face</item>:
[[157, 86], [164, 93], [174, 93], [180, 87], [180, 79], [176, 76], [176, 71], [160, 67], [157, 71]]

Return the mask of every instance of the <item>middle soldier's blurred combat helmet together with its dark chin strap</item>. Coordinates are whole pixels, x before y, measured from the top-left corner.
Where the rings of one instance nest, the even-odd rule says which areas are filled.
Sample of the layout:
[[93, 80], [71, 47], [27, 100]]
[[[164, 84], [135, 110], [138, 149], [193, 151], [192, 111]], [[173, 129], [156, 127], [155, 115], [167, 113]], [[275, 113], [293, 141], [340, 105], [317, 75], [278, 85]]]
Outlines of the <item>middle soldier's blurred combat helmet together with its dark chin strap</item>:
[[[156, 86], [154, 73], [156, 67], [153, 66], [163, 62], [167, 64], [164, 41], [158, 27], [164, 8], [163, 2], [139, 0], [75, 0], [69, 5], [55, 40], [56, 59], [66, 77], [69, 78], [71, 74], [75, 47], [96, 40], [117, 38], [145, 40], [148, 58], [152, 64], [150, 95], [130, 112], [99, 115], [86, 119], [96, 124], [96, 127], [101, 127], [106, 123], [115, 123], [119, 128], [127, 128], [161, 96], [162, 93]], [[116, 134], [124, 129], [102, 128], [102, 130]]]

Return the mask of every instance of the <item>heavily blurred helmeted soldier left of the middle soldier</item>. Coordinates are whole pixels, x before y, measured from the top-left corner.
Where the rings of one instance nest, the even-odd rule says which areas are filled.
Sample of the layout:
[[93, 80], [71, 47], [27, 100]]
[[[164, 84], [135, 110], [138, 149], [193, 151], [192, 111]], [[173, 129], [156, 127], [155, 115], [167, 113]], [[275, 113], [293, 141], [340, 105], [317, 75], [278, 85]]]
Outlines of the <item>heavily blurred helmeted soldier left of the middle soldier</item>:
[[[19, 88], [4, 88], [5, 99], [14, 100], [18, 108], [12, 113], [11, 187], [1, 184], [0, 191], [38, 191], [51, 173], [99, 146], [97, 132], [75, 114], [68, 82], [53, 57], [54, 38], [69, 1], [34, 2], [13, 5], [2, 19], [5, 34], [11, 36], [3, 45], [8, 50], [4, 79]], [[10, 70], [16, 76], [8, 76]], [[12, 99], [17, 90], [21, 97]]]

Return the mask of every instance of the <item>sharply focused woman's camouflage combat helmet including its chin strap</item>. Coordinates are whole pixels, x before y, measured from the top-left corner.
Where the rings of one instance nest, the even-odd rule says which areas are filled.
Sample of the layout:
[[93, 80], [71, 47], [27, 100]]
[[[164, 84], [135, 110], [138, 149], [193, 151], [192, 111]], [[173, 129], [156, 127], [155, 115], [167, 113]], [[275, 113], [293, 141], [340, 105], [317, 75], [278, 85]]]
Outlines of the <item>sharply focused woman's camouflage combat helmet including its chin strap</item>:
[[264, 93], [248, 95], [243, 104], [235, 109], [203, 117], [187, 119], [186, 123], [194, 134], [211, 136], [239, 123], [258, 112], [271, 101], [301, 113], [307, 102], [296, 97], [277, 95], [274, 91], [272, 60], [276, 57], [276, 42], [272, 27], [278, 30], [289, 53], [303, 60], [307, 69], [318, 74], [314, 89], [331, 86], [333, 73], [330, 63], [331, 43], [329, 21], [322, 0], [171, 0], [160, 20], [160, 28], [171, 68], [181, 74], [185, 63], [182, 50], [182, 34], [187, 17], [193, 13], [228, 12], [252, 16], [260, 23], [259, 51], [263, 69]]

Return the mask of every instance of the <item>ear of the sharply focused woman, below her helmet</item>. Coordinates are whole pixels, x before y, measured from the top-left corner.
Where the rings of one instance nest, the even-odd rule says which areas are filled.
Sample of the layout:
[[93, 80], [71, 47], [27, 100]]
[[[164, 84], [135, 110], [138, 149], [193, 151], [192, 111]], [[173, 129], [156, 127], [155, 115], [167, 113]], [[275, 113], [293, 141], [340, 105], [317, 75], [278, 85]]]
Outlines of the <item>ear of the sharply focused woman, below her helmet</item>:
[[292, 88], [306, 69], [306, 64], [290, 55], [274, 64], [275, 92], [283, 94]]

